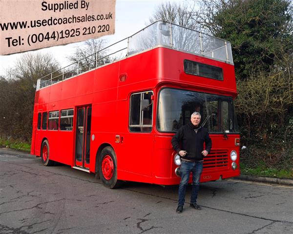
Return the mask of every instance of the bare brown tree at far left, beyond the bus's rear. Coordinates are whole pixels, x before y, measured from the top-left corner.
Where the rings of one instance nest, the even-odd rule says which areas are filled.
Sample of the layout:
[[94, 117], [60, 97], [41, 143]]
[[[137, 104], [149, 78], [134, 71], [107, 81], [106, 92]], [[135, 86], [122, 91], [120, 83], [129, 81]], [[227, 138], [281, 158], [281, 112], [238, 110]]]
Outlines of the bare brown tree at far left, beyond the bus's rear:
[[30, 141], [38, 78], [60, 67], [50, 54], [28, 53], [0, 78], [0, 136]]

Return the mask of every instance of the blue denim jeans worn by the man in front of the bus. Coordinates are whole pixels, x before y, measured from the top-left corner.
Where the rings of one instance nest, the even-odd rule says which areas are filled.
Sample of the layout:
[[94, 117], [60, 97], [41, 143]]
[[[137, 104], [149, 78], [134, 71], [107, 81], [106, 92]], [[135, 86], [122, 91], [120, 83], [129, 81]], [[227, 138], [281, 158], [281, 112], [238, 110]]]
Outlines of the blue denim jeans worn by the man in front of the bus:
[[192, 172], [192, 191], [190, 197], [190, 203], [196, 203], [198, 191], [199, 191], [199, 179], [200, 175], [203, 171], [203, 162], [188, 162], [188, 161], [181, 161], [180, 167], [180, 184], [179, 184], [179, 199], [178, 205], [184, 205], [185, 202], [185, 193], [186, 187], [188, 185], [189, 175]]

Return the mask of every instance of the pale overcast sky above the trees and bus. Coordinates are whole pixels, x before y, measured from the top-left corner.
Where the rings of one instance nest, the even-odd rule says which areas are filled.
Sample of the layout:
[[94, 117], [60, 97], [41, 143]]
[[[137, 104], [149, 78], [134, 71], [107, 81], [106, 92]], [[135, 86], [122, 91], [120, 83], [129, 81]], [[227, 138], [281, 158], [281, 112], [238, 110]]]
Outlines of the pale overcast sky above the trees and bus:
[[[120, 39], [127, 38], [144, 28], [148, 24], [149, 18], [154, 13], [156, 7], [167, 0], [116, 0], [116, 19], [115, 19], [115, 34], [102, 37], [107, 39], [109, 43], [114, 43]], [[183, 0], [173, 0], [175, 2], [182, 2]], [[83, 42], [71, 43], [68, 45], [54, 46], [36, 50], [36, 52], [51, 53], [60, 61], [63, 66], [69, 64], [66, 56], [72, 54], [75, 48], [82, 45]], [[14, 55], [0, 56], [0, 75], [4, 75], [8, 67], [13, 67], [16, 59], [20, 58], [24, 52]]]

